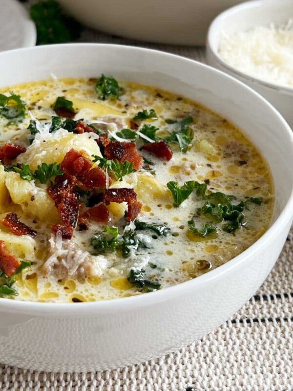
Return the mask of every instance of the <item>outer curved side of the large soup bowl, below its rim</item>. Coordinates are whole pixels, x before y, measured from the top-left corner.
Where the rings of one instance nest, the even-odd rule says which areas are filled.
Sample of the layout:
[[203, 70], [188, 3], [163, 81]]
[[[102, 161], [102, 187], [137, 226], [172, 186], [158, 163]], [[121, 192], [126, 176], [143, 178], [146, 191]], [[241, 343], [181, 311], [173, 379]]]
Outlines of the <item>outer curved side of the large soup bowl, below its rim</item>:
[[[270, 272], [289, 227], [277, 233], [273, 247], [260, 247], [239, 267], [188, 294], [168, 298], [167, 288], [165, 301], [142, 308], [74, 318], [27, 316], [22, 324], [0, 327], [0, 362], [46, 371], [95, 371], [132, 365], [186, 346], [249, 300]], [[0, 316], [7, 314], [0, 310]]]

